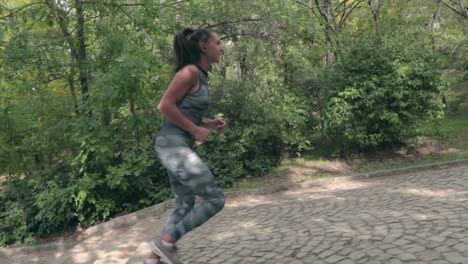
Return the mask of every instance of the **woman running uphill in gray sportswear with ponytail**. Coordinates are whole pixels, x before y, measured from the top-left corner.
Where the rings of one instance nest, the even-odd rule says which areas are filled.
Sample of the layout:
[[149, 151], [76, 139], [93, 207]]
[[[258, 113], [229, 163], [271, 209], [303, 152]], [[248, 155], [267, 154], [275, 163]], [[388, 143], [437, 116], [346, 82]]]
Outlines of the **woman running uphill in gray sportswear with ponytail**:
[[[208, 28], [185, 28], [174, 38], [175, 75], [158, 105], [165, 123], [156, 138], [159, 161], [166, 168], [176, 209], [162, 235], [151, 241], [153, 253], [145, 264], [181, 264], [176, 243], [224, 207], [224, 194], [207, 165], [194, 152], [195, 143], [208, 140], [211, 130], [222, 132], [223, 119], [203, 115], [210, 106], [208, 70], [224, 48]], [[203, 199], [194, 207], [195, 196]], [[161, 260], [162, 258], [162, 260]]]

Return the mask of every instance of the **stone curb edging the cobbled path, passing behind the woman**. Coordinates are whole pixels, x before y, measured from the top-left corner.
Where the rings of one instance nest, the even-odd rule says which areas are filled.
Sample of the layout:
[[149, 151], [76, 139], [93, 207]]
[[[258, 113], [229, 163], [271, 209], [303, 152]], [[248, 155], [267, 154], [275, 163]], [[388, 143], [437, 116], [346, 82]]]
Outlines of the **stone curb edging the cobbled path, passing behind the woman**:
[[[295, 190], [295, 189], [303, 189], [303, 188], [310, 188], [310, 187], [317, 187], [323, 183], [327, 182], [337, 182], [337, 181], [347, 181], [347, 180], [358, 180], [358, 179], [366, 179], [366, 178], [374, 178], [374, 177], [382, 177], [382, 176], [389, 176], [395, 174], [402, 174], [402, 173], [409, 173], [415, 171], [422, 171], [428, 169], [435, 169], [441, 168], [444, 166], [456, 166], [456, 165], [463, 165], [468, 164], [468, 159], [460, 159], [454, 161], [447, 161], [447, 162], [438, 162], [438, 163], [431, 163], [431, 164], [424, 164], [418, 166], [411, 166], [411, 167], [404, 167], [398, 169], [391, 169], [391, 170], [382, 170], [370, 173], [363, 173], [357, 174], [352, 176], [337, 176], [332, 178], [325, 178], [325, 179], [314, 179], [300, 183], [293, 183], [293, 184], [284, 184], [284, 185], [275, 185], [270, 187], [258, 188], [258, 189], [249, 189], [249, 190], [241, 190], [241, 191], [234, 191], [234, 192], [227, 192], [225, 193], [226, 198], [237, 198], [240, 196], [255, 196], [255, 195], [266, 195], [272, 194], [275, 192], [286, 191], [286, 190]], [[165, 213], [166, 210], [170, 208], [174, 208], [175, 202], [174, 199], [164, 201], [159, 204], [155, 204], [153, 206], [138, 210], [128, 215], [120, 216], [118, 218], [112, 219], [110, 221], [98, 224], [86, 230], [86, 237], [91, 236], [96, 232], [103, 232], [109, 229], [118, 228], [126, 225], [134, 224], [138, 219], [146, 217], [150, 213], [162, 215]], [[84, 238], [83, 240], [85, 240]], [[79, 243], [79, 242], [78, 242]], [[47, 250], [65, 250], [75, 246], [76, 243], [50, 243], [45, 245], [39, 246], [32, 246], [32, 247], [21, 247], [21, 248], [0, 248], [0, 254], [4, 254], [7, 257], [10, 257], [14, 254], [18, 253], [32, 253], [35, 251], [47, 251]]]

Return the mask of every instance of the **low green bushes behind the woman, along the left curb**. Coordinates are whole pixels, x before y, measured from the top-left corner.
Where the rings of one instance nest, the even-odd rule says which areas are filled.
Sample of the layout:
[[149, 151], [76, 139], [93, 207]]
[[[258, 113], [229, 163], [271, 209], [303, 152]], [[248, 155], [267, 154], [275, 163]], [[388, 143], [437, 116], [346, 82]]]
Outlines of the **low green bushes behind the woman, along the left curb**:
[[[153, 138], [132, 126], [136, 118], [142, 117], [123, 118], [108, 127], [94, 119], [75, 119], [70, 122], [75, 133], [62, 142], [75, 149], [62, 149], [50, 164], [21, 164], [25, 173], [12, 174], [0, 186], [0, 244], [25, 242], [31, 236], [50, 235], [76, 224], [88, 226], [169, 198]], [[22, 137], [23, 142], [33, 139], [29, 134]], [[41, 142], [36, 145], [45, 144]], [[44, 153], [31, 144], [17, 150], [25, 153], [24, 160]]]

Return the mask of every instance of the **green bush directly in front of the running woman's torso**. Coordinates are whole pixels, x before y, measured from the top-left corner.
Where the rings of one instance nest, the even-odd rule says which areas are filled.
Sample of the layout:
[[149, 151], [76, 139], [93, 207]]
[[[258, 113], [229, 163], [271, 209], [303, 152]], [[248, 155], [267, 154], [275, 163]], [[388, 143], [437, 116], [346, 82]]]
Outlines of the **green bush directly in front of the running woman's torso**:
[[228, 121], [198, 152], [223, 187], [246, 176], [263, 175], [285, 152], [308, 150], [314, 126], [305, 99], [285, 87], [255, 82], [222, 81], [212, 88], [211, 116]]

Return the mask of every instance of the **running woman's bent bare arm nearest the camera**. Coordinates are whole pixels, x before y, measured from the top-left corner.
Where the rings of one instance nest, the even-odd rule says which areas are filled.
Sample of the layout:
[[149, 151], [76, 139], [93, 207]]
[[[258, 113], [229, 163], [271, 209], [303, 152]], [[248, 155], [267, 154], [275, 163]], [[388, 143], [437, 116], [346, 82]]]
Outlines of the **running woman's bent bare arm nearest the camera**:
[[197, 82], [198, 69], [194, 65], [184, 67], [172, 79], [157, 108], [171, 123], [194, 135], [197, 141], [204, 142], [210, 131], [196, 126], [177, 107], [177, 102], [195, 87]]

